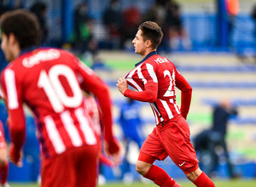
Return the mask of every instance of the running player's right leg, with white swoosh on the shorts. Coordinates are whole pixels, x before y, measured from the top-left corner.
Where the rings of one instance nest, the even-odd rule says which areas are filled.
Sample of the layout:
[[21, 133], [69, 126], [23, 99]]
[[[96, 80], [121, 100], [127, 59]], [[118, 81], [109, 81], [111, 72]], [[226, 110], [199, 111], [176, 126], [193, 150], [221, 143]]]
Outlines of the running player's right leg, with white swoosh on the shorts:
[[186, 177], [196, 186], [215, 186], [205, 173], [198, 167], [195, 149], [190, 142], [189, 124], [182, 116], [177, 116], [170, 122], [169, 127], [158, 130], [160, 141], [165, 147], [172, 161], [183, 170]]

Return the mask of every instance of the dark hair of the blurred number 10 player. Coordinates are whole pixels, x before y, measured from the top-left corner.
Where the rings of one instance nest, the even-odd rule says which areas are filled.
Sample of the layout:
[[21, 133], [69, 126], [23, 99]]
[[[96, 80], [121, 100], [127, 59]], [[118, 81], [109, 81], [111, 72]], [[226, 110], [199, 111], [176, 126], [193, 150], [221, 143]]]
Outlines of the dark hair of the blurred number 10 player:
[[9, 37], [13, 33], [20, 49], [39, 44], [39, 24], [37, 17], [29, 11], [17, 9], [6, 12], [0, 19], [1, 31]]

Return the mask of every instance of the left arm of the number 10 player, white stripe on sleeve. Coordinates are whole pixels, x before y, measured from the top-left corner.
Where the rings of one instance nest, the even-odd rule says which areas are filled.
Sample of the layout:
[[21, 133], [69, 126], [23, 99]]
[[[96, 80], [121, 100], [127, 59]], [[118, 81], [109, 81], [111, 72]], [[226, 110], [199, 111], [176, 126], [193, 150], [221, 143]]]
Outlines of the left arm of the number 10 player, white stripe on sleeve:
[[9, 113], [9, 133], [12, 142], [9, 156], [11, 161], [18, 165], [26, 138], [26, 121], [22, 107], [21, 88], [16, 82], [15, 71], [5, 69], [1, 76], [1, 85]]

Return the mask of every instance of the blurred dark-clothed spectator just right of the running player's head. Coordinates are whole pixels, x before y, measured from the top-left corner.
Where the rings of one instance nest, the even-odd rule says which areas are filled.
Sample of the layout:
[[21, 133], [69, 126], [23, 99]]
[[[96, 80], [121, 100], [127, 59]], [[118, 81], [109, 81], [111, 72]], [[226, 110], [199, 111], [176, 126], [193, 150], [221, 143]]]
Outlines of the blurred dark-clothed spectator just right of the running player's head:
[[180, 42], [184, 49], [191, 48], [191, 41], [183, 28], [180, 6], [176, 2], [169, 1], [166, 3], [166, 24], [164, 28], [171, 49], [179, 48]]

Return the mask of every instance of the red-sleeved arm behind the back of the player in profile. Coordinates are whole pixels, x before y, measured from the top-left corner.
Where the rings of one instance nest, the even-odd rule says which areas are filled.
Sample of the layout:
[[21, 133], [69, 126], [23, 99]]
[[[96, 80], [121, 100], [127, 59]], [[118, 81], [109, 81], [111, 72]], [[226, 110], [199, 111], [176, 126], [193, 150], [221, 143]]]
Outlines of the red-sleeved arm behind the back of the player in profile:
[[176, 87], [181, 90], [181, 115], [187, 119], [192, 97], [192, 88], [189, 85], [189, 82], [187, 82], [186, 79], [178, 71], [176, 71], [175, 78]]

